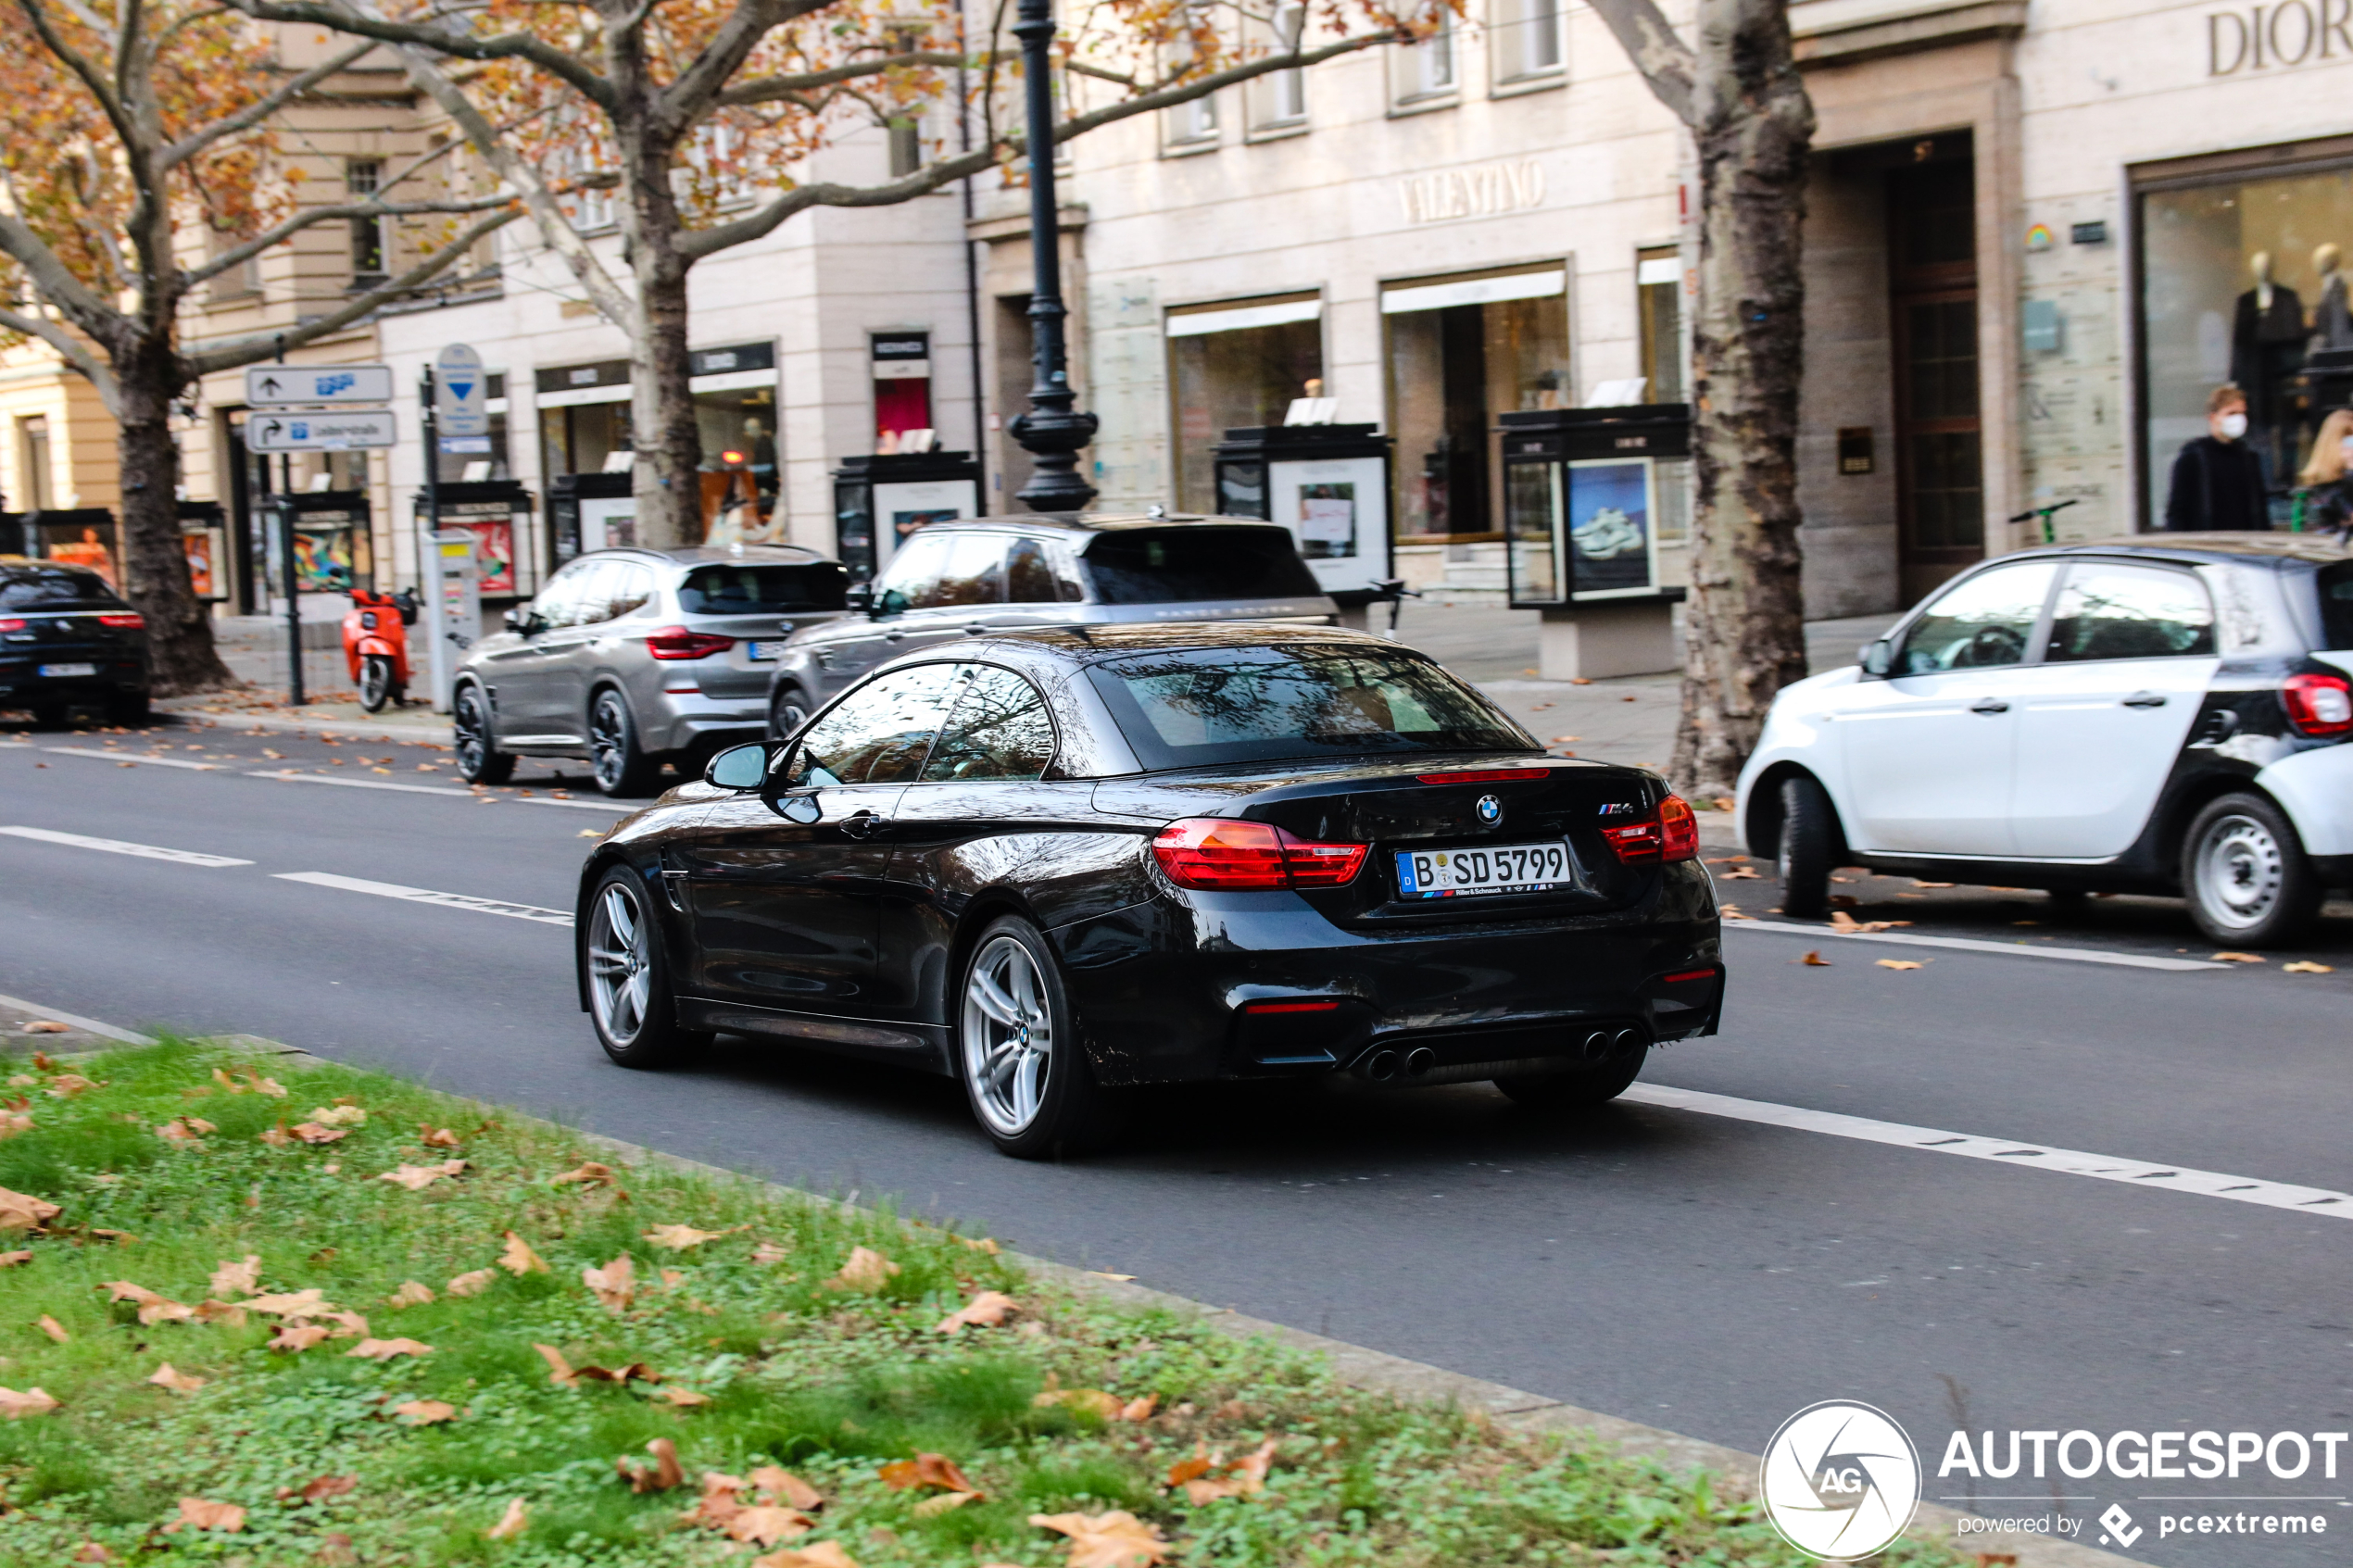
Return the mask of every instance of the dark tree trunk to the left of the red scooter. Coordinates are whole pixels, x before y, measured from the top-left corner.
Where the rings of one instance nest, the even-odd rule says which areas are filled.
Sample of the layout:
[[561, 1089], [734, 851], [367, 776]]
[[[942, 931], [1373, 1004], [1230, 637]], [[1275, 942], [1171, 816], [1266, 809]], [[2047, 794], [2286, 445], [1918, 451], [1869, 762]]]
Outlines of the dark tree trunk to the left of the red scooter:
[[155, 696], [219, 691], [235, 682], [212, 646], [212, 616], [195, 597], [179, 538], [179, 447], [172, 442], [169, 350], [118, 362], [115, 458], [122, 470], [122, 597], [146, 616]]

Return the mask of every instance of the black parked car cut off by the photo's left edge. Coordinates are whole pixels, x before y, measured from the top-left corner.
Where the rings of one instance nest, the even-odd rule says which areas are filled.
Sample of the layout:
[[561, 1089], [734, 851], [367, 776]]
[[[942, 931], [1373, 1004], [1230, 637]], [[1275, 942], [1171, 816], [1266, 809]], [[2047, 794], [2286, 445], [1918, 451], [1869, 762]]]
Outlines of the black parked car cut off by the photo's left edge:
[[64, 724], [99, 708], [108, 724], [146, 724], [146, 621], [94, 571], [0, 559], [0, 708]]

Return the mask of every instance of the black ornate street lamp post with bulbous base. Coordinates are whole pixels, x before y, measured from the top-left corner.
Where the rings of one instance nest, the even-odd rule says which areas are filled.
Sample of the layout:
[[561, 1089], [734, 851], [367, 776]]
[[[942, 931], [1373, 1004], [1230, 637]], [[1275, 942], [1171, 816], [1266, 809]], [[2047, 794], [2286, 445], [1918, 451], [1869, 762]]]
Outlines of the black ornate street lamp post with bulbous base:
[[1031, 160], [1031, 409], [1012, 423], [1012, 437], [1031, 454], [1035, 473], [1021, 487], [1033, 512], [1078, 512], [1094, 501], [1094, 487], [1078, 477], [1078, 454], [1094, 440], [1094, 414], [1071, 404], [1071, 369], [1061, 322], [1061, 209], [1054, 200], [1054, 0], [1021, 0], [1014, 24], [1021, 40], [1024, 92], [1028, 96]]

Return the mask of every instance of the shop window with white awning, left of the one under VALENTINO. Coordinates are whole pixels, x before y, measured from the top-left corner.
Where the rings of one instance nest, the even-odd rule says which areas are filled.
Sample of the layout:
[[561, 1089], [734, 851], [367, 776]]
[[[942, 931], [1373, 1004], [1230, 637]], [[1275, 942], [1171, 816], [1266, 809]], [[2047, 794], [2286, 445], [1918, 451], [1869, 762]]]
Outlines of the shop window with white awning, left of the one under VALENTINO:
[[1217, 510], [1214, 454], [1226, 430], [1280, 425], [1294, 397], [1322, 381], [1322, 299], [1292, 294], [1172, 310], [1169, 381], [1176, 395], [1176, 505]]

